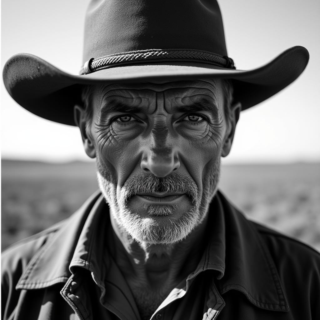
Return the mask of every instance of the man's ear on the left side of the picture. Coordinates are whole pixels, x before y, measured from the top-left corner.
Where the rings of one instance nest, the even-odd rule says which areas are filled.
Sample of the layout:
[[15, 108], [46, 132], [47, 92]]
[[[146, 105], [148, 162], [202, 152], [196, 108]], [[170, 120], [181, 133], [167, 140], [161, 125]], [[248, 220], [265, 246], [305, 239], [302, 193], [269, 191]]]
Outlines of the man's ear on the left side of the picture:
[[84, 108], [79, 105], [75, 105], [73, 111], [75, 123], [79, 127], [82, 136], [84, 151], [90, 158], [93, 159], [96, 157], [96, 149], [90, 132], [88, 132], [88, 127], [84, 116]]

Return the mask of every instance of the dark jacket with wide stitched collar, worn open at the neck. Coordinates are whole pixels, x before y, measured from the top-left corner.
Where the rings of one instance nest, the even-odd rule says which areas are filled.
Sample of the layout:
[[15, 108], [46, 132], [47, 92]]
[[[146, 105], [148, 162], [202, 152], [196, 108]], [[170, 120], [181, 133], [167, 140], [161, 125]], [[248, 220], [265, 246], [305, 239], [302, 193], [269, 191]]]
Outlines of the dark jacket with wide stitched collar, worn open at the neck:
[[[198, 267], [152, 319], [320, 319], [318, 252], [247, 220], [219, 192], [209, 215]], [[139, 320], [106, 250], [108, 230], [99, 193], [67, 220], [8, 248], [2, 318]]]

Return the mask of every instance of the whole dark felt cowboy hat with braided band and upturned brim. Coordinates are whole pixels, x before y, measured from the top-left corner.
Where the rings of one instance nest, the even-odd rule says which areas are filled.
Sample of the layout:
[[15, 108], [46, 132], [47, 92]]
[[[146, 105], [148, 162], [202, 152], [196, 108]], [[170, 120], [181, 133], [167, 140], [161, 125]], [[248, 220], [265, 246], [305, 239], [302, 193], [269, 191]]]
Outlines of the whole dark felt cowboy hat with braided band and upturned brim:
[[236, 70], [215, 0], [96, 0], [86, 15], [80, 75], [20, 53], [6, 62], [3, 77], [22, 107], [75, 125], [73, 107], [81, 103], [83, 85], [227, 78], [244, 110], [294, 81], [308, 58], [296, 46], [260, 68]]

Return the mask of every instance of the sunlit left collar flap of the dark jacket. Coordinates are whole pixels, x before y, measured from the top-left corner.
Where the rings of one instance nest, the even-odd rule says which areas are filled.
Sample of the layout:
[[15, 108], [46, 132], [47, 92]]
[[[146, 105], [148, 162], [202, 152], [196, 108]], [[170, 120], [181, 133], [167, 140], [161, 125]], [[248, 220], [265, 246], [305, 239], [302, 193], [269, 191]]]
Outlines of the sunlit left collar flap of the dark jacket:
[[101, 203], [104, 203], [101, 193], [94, 193], [79, 210], [65, 220], [58, 231], [49, 235], [47, 242], [28, 263], [16, 289], [42, 289], [68, 280], [71, 275], [70, 261], [74, 260], [75, 255], [79, 257], [88, 252], [87, 245], [80, 249], [77, 244], [87, 244], [85, 235], [88, 224], [96, 216]]

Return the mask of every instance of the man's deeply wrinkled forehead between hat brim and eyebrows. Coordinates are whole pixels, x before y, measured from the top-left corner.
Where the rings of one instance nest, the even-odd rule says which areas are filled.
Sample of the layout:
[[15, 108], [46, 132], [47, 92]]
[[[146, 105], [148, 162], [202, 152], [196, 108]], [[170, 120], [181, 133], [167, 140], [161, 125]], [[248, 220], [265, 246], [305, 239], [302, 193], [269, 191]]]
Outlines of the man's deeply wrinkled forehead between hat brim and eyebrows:
[[[208, 101], [218, 108], [223, 105], [220, 80], [175, 81], [165, 83], [108, 84], [96, 87], [93, 92], [95, 105], [99, 108], [109, 103], [145, 105], [155, 107], [158, 96], [167, 106], [185, 105], [196, 101]], [[153, 107], [152, 107], [153, 106]]]

